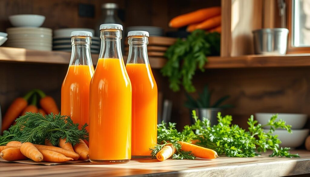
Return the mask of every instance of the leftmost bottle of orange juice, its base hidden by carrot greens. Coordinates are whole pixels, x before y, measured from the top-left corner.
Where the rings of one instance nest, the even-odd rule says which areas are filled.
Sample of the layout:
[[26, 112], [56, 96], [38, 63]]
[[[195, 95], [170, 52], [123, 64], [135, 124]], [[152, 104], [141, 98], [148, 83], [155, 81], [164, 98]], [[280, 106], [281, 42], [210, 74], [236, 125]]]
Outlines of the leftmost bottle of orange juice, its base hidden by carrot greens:
[[94, 74], [90, 52], [92, 33], [73, 31], [71, 37], [70, 64], [61, 86], [61, 114], [70, 116], [81, 128], [89, 124], [89, 85]]

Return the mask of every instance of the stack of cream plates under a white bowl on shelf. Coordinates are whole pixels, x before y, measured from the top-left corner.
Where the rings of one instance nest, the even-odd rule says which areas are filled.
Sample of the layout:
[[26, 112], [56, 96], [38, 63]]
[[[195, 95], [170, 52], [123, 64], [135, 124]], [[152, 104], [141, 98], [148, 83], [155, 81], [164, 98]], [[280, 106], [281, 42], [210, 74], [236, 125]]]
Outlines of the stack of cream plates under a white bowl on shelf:
[[52, 29], [38, 27], [13, 27], [7, 29], [8, 47], [32, 50], [52, 50]]

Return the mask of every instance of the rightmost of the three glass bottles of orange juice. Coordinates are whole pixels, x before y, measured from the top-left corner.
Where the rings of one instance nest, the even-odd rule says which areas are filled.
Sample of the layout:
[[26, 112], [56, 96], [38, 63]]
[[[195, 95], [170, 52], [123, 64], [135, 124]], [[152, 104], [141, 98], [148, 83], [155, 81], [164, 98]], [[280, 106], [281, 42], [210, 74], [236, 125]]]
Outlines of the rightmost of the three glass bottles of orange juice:
[[148, 32], [128, 33], [126, 64], [132, 86], [132, 158], [150, 158], [157, 144], [157, 85], [148, 61]]

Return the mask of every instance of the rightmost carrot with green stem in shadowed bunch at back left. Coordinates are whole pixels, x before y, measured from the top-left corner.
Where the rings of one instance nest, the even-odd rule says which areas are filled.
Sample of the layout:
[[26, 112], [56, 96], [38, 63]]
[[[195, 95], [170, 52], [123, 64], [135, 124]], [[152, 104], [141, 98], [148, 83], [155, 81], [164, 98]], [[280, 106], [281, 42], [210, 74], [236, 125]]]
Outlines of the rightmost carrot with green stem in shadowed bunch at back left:
[[36, 89], [35, 91], [40, 95], [40, 106], [47, 114], [59, 114], [57, 104], [52, 97], [45, 95], [42, 90]]

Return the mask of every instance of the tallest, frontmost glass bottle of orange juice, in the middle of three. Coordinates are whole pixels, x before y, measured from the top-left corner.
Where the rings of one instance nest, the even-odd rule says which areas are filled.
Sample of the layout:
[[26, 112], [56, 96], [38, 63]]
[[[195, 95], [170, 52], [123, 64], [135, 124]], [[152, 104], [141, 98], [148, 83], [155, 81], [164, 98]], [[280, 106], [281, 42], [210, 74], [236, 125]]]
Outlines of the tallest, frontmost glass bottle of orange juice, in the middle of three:
[[94, 163], [131, 159], [131, 82], [122, 51], [122, 25], [102, 24], [101, 49], [90, 85], [89, 158]]

